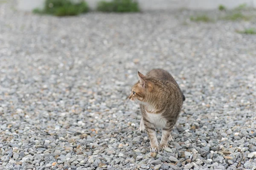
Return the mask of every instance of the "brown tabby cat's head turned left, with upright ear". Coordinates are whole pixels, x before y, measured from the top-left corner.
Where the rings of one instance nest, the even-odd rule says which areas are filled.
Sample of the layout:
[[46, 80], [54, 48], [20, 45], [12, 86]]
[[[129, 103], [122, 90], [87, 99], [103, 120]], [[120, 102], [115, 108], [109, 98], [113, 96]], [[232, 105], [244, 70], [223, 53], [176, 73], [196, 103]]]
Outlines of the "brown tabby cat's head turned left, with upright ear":
[[148, 96], [152, 91], [152, 84], [146, 77], [138, 71], [139, 81], [135, 83], [131, 88], [131, 94], [129, 99], [132, 102], [143, 104], [148, 102]]

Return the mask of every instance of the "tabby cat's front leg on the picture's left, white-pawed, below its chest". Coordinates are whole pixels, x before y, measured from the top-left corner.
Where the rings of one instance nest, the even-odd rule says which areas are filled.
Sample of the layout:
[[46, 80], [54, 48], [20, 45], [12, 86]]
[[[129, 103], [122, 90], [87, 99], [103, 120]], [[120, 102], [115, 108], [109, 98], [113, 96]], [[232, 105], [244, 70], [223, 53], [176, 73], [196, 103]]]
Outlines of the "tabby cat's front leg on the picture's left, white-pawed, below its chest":
[[159, 144], [157, 141], [157, 135], [155, 131], [155, 126], [149, 122], [147, 119], [143, 119], [145, 130], [148, 134], [150, 140], [150, 152], [158, 152]]

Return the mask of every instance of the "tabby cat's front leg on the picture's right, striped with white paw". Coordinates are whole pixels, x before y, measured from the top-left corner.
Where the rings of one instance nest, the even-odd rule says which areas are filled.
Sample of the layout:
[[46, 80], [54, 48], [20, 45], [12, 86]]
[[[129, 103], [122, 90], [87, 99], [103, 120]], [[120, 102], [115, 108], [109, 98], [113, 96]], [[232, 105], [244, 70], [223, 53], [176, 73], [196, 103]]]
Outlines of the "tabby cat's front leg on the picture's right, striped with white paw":
[[[175, 125], [175, 122], [170, 121], [166, 124], [166, 127], [164, 127], [162, 129], [162, 137], [161, 137], [161, 141], [160, 141], [160, 150], [164, 150], [166, 147], [168, 147], [168, 141], [171, 138], [171, 132], [172, 132], [172, 128]], [[173, 140], [173, 139], [172, 139]]]

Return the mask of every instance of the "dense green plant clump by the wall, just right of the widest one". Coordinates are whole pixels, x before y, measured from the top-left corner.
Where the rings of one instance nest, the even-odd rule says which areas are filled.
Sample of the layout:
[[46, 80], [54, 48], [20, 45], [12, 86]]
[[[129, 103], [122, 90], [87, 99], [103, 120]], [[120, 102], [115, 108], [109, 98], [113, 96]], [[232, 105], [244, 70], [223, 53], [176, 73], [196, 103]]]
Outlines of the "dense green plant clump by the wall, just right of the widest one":
[[97, 6], [102, 12], [138, 12], [139, 4], [133, 0], [112, 0], [111, 2], [100, 1]]

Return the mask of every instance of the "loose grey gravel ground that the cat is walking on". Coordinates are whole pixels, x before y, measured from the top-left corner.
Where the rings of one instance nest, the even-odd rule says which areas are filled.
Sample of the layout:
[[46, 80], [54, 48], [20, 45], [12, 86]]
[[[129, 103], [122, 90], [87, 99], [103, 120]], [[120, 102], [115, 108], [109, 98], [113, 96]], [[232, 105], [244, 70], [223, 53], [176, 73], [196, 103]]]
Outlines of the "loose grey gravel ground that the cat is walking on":
[[[236, 32], [255, 20], [58, 18], [15, 3], [0, 4], [0, 170], [256, 169], [256, 35]], [[151, 68], [186, 96], [175, 142], [159, 153], [127, 99], [137, 71]]]

